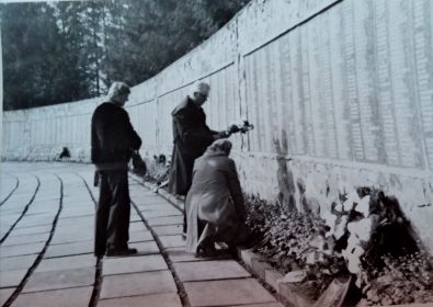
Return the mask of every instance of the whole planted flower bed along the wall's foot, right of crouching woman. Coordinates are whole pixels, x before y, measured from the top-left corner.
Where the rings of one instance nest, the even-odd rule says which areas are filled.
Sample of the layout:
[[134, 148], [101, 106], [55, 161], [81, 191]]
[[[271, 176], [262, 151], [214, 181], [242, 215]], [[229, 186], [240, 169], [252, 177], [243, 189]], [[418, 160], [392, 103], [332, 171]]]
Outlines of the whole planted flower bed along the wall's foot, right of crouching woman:
[[[355, 295], [358, 306], [433, 302], [429, 257], [420, 252], [418, 247], [414, 250], [410, 243], [410, 248], [398, 249], [398, 252], [392, 250], [394, 246], [386, 246], [389, 240], [387, 231], [404, 230], [401, 212], [380, 191], [362, 189], [357, 192], [362, 194], [357, 203], [362, 203], [361, 200], [368, 195], [368, 213], [363, 216], [354, 212], [357, 206], [354, 203], [346, 212], [339, 213], [340, 217], [345, 217], [339, 218], [344, 220], [344, 225], [331, 227], [327, 225], [328, 221], [312, 214], [288, 212], [278, 204], [247, 196], [247, 223], [265, 238], [255, 252], [283, 274], [298, 272], [296, 274], [299, 277], [299, 272], [303, 272], [297, 288], [310, 299], [318, 299], [334, 278], [352, 275], [356, 280], [354, 288], [358, 293]], [[342, 203], [346, 200], [347, 197], [343, 197]], [[353, 274], [349, 270], [347, 258], [343, 255], [352, 248], [353, 239], [347, 228], [355, 228], [356, 223], [367, 217], [377, 224], [372, 227], [369, 240], [362, 241], [366, 252], [361, 253], [360, 261], [356, 262], [358, 265], [355, 265], [360, 271]], [[331, 228], [340, 229], [335, 230], [340, 234], [330, 235]], [[397, 255], [385, 253], [390, 251]]]

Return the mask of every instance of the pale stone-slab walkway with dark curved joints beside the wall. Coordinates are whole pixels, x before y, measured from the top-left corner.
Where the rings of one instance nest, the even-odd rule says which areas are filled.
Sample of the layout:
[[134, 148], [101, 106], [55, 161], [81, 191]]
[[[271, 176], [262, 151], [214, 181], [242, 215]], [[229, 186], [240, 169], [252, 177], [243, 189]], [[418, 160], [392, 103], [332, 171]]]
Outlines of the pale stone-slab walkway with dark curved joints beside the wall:
[[182, 213], [130, 179], [134, 257], [93, 257], [93, 167], [2, 163], [0, 306], [282, 306], [237, 261], [184, 252]]

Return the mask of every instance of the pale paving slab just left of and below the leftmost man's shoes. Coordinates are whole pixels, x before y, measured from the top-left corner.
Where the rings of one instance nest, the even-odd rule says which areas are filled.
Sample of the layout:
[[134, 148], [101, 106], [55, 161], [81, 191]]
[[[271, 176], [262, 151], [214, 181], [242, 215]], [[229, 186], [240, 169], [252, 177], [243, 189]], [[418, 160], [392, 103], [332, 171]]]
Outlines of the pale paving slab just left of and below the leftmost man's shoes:
[[96, 265], [96, 258], [93, 254], [49, 258], [49, 259], [43, 259], [39, 262], [39, 264], [35, 270], [35, 273], [93, 268], [95, 265]]

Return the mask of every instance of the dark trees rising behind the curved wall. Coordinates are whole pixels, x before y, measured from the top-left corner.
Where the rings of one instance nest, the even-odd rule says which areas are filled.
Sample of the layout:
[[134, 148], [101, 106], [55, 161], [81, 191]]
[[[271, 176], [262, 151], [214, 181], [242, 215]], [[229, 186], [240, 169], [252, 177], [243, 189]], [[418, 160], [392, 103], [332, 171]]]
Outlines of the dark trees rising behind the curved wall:
[[134, 86], [209, 37], [250, 0], [100, 0], [0, 4], [3, 110]]

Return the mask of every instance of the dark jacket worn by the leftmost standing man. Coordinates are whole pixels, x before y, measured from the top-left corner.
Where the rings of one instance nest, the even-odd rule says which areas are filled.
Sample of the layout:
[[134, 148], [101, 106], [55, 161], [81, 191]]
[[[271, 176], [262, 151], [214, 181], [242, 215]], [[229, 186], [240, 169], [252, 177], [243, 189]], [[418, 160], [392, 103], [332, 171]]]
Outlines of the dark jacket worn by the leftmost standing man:
[[92, 162], [105, 164], [127, 163], [133, 150], [141, 146], [141, 139], [130, 124], [128, 113], [111, 102], [96, 107], [92, 116]]

